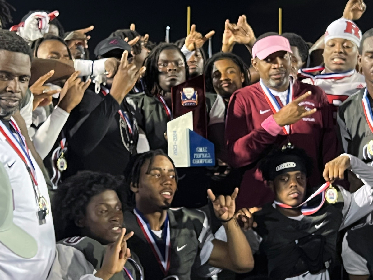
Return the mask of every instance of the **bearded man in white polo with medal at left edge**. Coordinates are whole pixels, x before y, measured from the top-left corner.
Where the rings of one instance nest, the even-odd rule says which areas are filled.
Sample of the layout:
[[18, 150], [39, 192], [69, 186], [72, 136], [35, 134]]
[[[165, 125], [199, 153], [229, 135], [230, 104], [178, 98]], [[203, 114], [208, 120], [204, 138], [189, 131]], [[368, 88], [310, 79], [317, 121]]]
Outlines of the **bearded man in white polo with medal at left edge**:
[[46, 279], [56, 254], [46, 181], [12, 117], [25, 96], [30, 76], [29, 46], [14, 32], [1, 30], [0, 163], [13, 190], [13, 223], [37, 243], [36, 255], [23, 258], [0, 240], [0, 279], [7, 280]]

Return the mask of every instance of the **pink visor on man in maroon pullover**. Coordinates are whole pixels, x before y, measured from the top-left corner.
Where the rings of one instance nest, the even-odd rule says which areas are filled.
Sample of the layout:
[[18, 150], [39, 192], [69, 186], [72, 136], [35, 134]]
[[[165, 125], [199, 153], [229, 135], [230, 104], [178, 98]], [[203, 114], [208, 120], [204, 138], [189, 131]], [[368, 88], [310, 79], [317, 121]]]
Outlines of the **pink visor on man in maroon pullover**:
[[253, 58], [258, 57], [258, 59], [263, 60], [270, 54], [280, 50], [293, 53], [288, 39], [280, 35], [264, 37], [254, 44]]

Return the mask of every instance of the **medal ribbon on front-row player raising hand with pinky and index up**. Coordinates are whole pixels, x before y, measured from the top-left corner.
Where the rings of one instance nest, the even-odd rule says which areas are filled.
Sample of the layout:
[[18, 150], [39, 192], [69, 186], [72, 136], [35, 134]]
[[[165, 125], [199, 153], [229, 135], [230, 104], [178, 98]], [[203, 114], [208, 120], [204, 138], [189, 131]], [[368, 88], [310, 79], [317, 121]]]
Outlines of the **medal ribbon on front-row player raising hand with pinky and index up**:
[[162, 272], [164, 275], [167, 275], [168, 270], [170, 268], [170, 254], [171, 254], [171, 242], [170, 242], [170, 221], [168, 218], [168, 214], [166, 216], [166, 220], [164, 221], [164, 256], [155, 241], [155, 236], [153, 231], [151, 231], [150, 225], [147, 223], [146, 218], [142, 217], [141, 212], [138, 209], [134, 209], [134, 214], [137, 218], [137, 223], [140, 225], [142, 233], [146, 240], [148, 241], [151, 251], [153, 251], [154, 256], [156, 257]]

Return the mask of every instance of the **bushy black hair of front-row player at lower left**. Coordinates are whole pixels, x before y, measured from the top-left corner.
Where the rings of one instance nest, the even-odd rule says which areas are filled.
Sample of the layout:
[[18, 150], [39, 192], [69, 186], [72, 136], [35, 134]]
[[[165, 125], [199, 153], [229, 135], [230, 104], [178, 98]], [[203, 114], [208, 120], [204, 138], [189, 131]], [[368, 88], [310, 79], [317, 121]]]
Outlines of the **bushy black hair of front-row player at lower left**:
[[56, 240], [71, 236], [80, 236], [81, 229], [75, 221], [86, 215], [91, 198], [106, 190], [117, 192], [121, 201], [125, 201], [126, 189], [123, 176], [81, 171], [66, 179], [56, 190], [53, 200], [53, 220]]

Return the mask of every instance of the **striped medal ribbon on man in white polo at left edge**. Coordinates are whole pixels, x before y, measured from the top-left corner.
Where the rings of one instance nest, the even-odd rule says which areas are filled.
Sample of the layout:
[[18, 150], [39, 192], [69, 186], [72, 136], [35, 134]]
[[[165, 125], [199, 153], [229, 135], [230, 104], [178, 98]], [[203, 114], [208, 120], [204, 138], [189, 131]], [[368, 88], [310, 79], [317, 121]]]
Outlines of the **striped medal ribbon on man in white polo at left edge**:
[[22, 159], [22, 161], [25, 163], [26, 167], [29, 169], [29, 172], [31, 174], [32, 181], [34, 182], [35, 186], [37, 186], [38, 182], [36, 178], [36, 171], [34, 168], [34, 164], [32, 164], [31, 157], [29, 155], [29, 149], [27, 147], [25, 137], [23, 137], [13, 117], [10, 118], [9, 123], [12, 126], [12, 128], [15, 130], [16, 134], [18, 134], [18, 137], [15, 137], [12, 131], [10, 131], [9, 128], [7, 128], [7, 126], [3, 124], [3, 122], [1, 121], [0, 121], [0, 132], [5, 136], [6, 141], [13, 148], [13, 150], [17, 153], [17, 155]]

